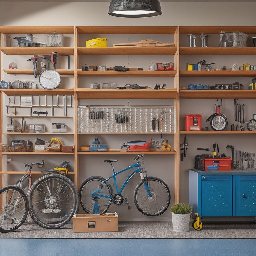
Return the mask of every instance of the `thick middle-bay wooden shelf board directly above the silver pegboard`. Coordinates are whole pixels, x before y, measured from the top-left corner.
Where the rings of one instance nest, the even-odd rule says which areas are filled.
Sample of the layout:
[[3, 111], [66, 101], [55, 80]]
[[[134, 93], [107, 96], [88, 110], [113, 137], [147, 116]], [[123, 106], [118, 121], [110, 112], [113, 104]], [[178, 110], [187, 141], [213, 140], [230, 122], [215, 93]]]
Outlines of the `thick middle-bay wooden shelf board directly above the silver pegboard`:
[[75, 90], [78, 99], [176, 99], [177, 89], [162, 90], [118, 90], [87, 89]]

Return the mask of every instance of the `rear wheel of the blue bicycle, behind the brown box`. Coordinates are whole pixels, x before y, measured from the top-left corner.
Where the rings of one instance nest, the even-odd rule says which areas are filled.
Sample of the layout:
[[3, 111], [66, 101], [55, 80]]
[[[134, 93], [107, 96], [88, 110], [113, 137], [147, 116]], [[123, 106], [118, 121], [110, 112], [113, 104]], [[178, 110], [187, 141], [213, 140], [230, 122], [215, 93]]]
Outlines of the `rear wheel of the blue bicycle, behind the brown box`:
[[98, 214], [103, 214], [109, 209], [112, 199], [99, 196], [94, 197], [94, 193], [113, 196], [113, 189], [110, 184], [108, 182], [102, 184], [104, 180], [100, 176], [91, 176], [82, 183], [79, 195], [81, 206], [85, 212], [94, 213], [95, 203], [97, 203]]

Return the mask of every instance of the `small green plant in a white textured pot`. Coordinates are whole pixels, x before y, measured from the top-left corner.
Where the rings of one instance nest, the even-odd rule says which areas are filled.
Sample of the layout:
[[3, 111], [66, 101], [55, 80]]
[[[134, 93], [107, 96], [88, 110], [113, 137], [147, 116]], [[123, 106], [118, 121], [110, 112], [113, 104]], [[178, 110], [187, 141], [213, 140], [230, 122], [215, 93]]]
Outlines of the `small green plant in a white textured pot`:
[[189, 230], [191, 211], [191, 206], [186, 203], [178, 203], [171, 207], [173, 231], [187, 232]]

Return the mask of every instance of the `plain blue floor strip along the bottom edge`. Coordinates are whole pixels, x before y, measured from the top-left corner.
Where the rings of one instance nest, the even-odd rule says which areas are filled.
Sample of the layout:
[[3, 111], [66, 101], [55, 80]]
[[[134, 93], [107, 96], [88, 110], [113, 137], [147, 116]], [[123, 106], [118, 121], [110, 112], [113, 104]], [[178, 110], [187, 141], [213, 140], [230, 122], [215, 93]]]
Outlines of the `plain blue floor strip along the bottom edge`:
[[255, 256], [256, 239], [1, 238], [1, 256]]

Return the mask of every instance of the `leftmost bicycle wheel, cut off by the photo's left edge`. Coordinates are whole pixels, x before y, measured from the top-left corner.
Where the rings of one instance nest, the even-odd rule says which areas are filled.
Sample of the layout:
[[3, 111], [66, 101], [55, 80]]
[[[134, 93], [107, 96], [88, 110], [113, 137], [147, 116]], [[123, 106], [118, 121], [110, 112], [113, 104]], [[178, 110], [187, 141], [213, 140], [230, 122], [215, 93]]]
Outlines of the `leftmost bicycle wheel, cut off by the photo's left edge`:
[[28, 215], [28, 199], [16, 186], [0, 190], [0, 232], [7, 233], [19, 228]]

